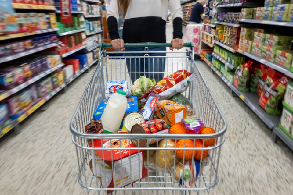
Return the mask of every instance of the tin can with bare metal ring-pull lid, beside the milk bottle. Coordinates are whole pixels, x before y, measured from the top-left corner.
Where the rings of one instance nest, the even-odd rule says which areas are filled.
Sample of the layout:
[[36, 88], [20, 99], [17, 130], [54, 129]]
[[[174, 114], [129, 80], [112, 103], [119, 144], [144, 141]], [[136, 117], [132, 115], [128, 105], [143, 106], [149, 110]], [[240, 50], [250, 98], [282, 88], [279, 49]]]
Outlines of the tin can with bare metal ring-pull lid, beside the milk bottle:
[[121, 131], [129, 133], [133, 125], [144, 122], [143, 115], [140, 112], [129, 112], [123, 119]]

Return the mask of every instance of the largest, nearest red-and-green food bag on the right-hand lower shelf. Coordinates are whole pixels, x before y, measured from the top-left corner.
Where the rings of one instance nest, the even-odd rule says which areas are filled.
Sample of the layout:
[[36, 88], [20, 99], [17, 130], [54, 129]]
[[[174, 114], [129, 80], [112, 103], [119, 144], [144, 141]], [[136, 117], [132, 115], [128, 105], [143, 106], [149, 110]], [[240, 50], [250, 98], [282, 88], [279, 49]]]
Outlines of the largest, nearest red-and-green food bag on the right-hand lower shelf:
[[282, 99], [287, 85], [287, 77], [271, 70], [266, 77], [266, 83], [259, 98], [259, 105], [271, 115], [278, 115], [282, 108]]

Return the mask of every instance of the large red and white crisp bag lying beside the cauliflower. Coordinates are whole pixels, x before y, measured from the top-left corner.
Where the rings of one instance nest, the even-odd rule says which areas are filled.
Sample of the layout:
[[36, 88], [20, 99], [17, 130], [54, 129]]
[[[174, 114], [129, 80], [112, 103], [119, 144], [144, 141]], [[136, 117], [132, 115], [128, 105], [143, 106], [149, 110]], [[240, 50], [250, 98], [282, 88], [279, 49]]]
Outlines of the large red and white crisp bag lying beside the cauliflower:
[[147, 90], [139, 101], [146, 102], [149, 96], [160, 97], [160, 100], [167, 100], [177, 93], [186, 91], [191, 81], [192, 73], [187, 70], [178, 70], [160, 80], [150, 90]]

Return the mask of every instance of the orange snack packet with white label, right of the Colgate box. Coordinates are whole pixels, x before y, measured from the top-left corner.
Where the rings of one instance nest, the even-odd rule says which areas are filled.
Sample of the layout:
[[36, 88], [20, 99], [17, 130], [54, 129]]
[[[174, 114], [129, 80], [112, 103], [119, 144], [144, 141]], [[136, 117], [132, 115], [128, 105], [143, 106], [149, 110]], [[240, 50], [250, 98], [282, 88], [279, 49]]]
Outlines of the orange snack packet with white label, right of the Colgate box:
[[155, 112], [160, 119], [171, 126], [186, 118], [186, 107], [170, 100], [157, 101]]

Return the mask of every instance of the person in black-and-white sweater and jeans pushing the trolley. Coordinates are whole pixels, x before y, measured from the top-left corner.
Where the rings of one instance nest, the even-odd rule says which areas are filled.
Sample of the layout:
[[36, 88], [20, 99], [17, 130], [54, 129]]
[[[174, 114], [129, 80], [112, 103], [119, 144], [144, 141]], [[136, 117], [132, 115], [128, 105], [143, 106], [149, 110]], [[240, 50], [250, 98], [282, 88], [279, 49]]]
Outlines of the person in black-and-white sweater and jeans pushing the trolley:
[[[138, 53], [125, 53], [126, 65], [132, 82], [144, 76], [143, 72], [157, 72], [145, 74], [155, 79], [156, 82], [163, 79], [165, 70], [165, 58], [139, 58], [145, 48], [124, 48], [124, 43], [166, 43], [166, 19], [168, 9], [173, 20], [173, 49], [183, 48], [182, 18], [183, 13], [179, 0], [111, 0], [107, 12], [107, 24], [111, 44], [115, 50], [135, 51]], [[123, 12], [123, 40], [119, 38], [117, 22], [119, 11]], [[149, 47], [149, 51], [166, 51], [166, 48]], [[166, 53], [149, 53], [150, 56], [166, 56]], [[133, 73], [136, 72], [136, 73]], [[139, 73], [140, 72], [140, 73]]]

